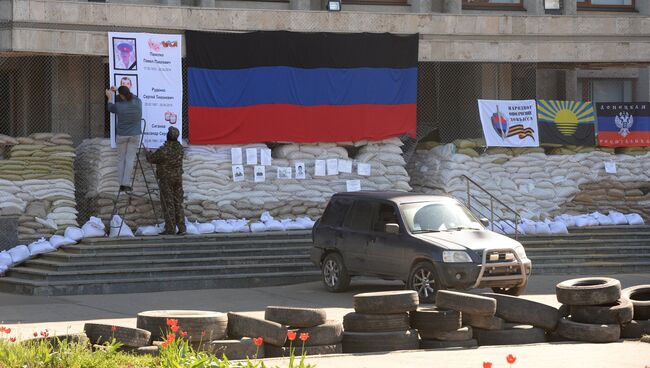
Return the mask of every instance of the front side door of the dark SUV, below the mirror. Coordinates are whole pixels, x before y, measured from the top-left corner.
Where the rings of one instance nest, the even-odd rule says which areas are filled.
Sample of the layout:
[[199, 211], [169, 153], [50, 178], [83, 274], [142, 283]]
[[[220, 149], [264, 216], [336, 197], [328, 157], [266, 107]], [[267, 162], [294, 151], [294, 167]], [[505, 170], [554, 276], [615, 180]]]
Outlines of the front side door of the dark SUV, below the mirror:
[[[400, 225], [399, 234], [386, 232], [386, 224]], [[369, 262], [373, 273], [380, 276], [398, 277], [403, 272], [404, 247], [397, 208], [392, 203], [379, 203], [372, 220], [372, 236], [368, 239]]]

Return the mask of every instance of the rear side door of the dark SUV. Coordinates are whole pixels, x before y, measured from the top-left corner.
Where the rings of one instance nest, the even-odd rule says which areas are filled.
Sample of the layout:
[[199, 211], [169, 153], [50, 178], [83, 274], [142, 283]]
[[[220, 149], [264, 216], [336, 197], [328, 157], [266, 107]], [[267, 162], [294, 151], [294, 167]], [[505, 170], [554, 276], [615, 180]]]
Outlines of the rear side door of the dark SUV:
[[345, 216], [339, 248], [351, 273], [367, 273], [371, 269], [368, 240], [373, 236], [370, 226], [375, 207], [372, 201], [355, 200]]

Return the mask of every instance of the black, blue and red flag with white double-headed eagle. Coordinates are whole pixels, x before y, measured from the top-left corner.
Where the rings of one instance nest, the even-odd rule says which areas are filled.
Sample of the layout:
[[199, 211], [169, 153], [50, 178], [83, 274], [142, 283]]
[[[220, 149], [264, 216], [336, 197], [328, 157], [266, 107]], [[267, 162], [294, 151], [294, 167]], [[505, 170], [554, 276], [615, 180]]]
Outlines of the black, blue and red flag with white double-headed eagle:
[[599, 146], [650, 146], [650, 102], [597, 103], [596, 114]]

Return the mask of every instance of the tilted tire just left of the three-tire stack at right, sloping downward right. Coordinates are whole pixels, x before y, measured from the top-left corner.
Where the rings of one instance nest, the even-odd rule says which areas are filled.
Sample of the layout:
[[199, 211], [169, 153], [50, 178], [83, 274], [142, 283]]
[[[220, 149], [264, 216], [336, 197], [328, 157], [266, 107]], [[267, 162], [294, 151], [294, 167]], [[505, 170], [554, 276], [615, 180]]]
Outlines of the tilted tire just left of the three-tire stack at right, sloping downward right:
[[496, 299], [496, 316], [508, 322], [533, 325], [549, 331], [555, 330], [555, 326], [557, 326], [558, 310], [550, 305], [517, 296], [496, 293], [483, 293], [481, 295]]

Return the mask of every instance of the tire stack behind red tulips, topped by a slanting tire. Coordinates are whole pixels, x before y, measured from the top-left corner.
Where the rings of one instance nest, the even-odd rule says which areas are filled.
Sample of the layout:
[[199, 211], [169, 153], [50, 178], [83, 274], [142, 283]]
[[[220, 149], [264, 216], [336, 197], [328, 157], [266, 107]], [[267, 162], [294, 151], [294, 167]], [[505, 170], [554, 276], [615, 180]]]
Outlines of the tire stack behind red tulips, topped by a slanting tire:
[[[340, 321], [328, 321], [324, 309], [269, 306], [266, 307], [264, 318], [288, 326], [288, 331], [295, 332], [297, 336], [293, 342], [285, 341], [284, 346], [265, 344], [264, 352], [267, 358], [289, 356], [292, 347], [295, 349], [295, 355], [301, 355], [303, 352], [307, 355], [343, 352], [343, 324]], [[304, 341], [304, 348], [300, 339], [302, 334], [308, 336]]]

